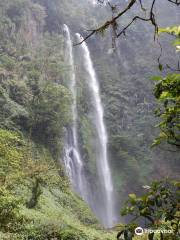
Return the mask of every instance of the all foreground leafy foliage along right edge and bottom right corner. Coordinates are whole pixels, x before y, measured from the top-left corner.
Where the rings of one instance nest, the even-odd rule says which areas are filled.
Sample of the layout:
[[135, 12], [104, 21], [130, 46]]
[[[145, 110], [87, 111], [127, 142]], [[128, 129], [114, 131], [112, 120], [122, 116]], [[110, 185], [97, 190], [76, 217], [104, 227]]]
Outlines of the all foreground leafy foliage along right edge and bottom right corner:
[[[179, 27], [161, 29], [160, 32], [175, 35], [176, 40], [173, 43], [176, 47], [179, 45]], [[160, 71], [163, 69], [163, 65], [160, 63], [159, 69]], [[174, 71], [178, 72], [179, 70], [175, 69]], [[162, 122], [158, 124], [160, 128], [159, 137], [154, 140], [152, 146], [165, 142], [178, 149], [180, 147], [180, 74], [169, 73], [166, 77], [156, 76], [153, 80], [158, 81], [154, 88], [154, 96], [160, 102], [155, 114]], [[129, 199], [122, 209], [121, 215], [130, 215], [132, 220], [121, 227], [117, 238], [134, 239], [136, 229], [141, 223], [144, 224], [145, 228], [152, 230], [147, 234], [149, 240], [178, 240], [180, 219], [179, 187], [180, 182], [166, 179], [164, 181], [153, 181], [151, 186], [144, 186], [147, 193], [142, 197], [137, 197], [134, 193], [129, 194]], [[141, 219], [145, 219], [145, 221]], [[142, 228], [140, 230], [142, 231]]]

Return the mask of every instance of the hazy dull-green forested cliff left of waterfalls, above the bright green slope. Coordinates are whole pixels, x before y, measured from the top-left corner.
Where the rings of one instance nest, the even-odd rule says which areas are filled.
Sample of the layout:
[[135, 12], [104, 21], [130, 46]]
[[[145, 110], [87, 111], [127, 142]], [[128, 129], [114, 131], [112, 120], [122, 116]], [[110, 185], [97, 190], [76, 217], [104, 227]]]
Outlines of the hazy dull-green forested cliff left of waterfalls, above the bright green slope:
[[[1, 17], [4, 26], [0, 55], [1, 127], [26, 132], [58, 157], [63, 128], [71, 119], [71, 96], [62, 86], [62, 49], [59, 53], [56, 51], [59, 44], [62, 46], [62, 39], [49, 34], [40, 39], [39, 26], [43, 25], [46, 16], [40, 5], [26, 1], [2, 5], [5, 13]], [[30, 19], [24, 19], [27, 13], [32, 26], [29, 26]], [[14, 46], [13, 39], [17, 41]]]

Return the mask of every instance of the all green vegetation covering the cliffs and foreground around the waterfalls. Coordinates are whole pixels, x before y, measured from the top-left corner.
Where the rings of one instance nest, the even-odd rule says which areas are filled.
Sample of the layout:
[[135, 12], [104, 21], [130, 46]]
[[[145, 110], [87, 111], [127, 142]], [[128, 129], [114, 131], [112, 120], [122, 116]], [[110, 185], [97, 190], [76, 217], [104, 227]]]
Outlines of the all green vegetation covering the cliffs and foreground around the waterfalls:
[[[76, 2], [76, 4], [74, 4]], [[163, 8], [166, 10], [166, 8]], [[87, 205], [70, 189], [62, 167], [65, 128], [71, 123], [72, 96], [67, 88], [69, 66], [64, 60], [61, 26], [73, 29], [96, 27], [109, 15], [79, 0], [0, 0], [0, 239], [2, 240], [112, 240], [114, 230], [103, 230]], [[131, 16], [122, 23], [127, 23]], [[171, 16], [166, 16], [171, 22]], [[173, 23], [174, 24], [174, 23]], [[160, 29], [175, 36], [179, 51], [179, 27]], [[105, 121], [109, 135], [109, 158], [118, 201], [129, 200], [123, 215], [153, 218], [151, 228], [174, 227], [176, 239], [179, 212], [177, 182], [153, 182], [142, 193], [140, 186], [152, 178], [178, 177], [179, 74], [155, 75], [151, 34], [143, 24], [135, 25], [130, 40], [112, 48], [111, 36], [89, 42], [101, 85]], [[143, 44], [142, 44], [143, 41]], [[169, 41], [169, 40], [168, 40]], [[165, 60], [174, 63], [168, 41]], [[118, 50], [119, 49], [119, 50]], [[76, 51], [76, 50], [75, 50]], [[159, 49], [158, 49], [159, 51]], [[88, 89], [81, 59], [78, 75], [78, 132], [87, 174], [96, 188], [93, 129], [90, 124]], [[159, 123], [159, 119], [161, 119]], [[160, 133], [154, 129], [157, 125]], [[161, 142], [171, 151], [151, 149]], [[93, 139], [93, 140], [92, 140]], [[172, 146], [171, 146], [172, 145]], [[162, 146], [162, 145], [160, 145]], [[121, 206], [118, 207], [118, 210]], [[117, 211], [118, 211], [117, 210]], [[137, 222], [121, 225], [120, 237], [134, 234]], [[128, 235], [130, 234], [130, 235]], [[127, 238], [127, 235], [129, 238]], [[145, 239], [142, 237], [141, 239]], [[161, 236], [157, 236], [161, 237]], [[134, 237], [134, 239], [136, 239]], [[139, 239], [139, 238], [137, 238]], [[153, 236], [149, 236], [153, 239]], [[164, 239], [168, 239], [165, 236]]]

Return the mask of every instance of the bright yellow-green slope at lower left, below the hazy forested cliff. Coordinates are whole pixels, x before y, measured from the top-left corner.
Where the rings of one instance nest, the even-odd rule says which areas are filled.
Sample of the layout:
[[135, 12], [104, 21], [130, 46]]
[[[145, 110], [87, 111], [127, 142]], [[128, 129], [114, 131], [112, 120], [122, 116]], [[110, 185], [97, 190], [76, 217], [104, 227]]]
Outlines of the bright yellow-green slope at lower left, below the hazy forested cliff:
[[[0, 130], [1, 239], [113, 239], [43, 147]], [[114, 237], [113, 237], [114, 236]]]

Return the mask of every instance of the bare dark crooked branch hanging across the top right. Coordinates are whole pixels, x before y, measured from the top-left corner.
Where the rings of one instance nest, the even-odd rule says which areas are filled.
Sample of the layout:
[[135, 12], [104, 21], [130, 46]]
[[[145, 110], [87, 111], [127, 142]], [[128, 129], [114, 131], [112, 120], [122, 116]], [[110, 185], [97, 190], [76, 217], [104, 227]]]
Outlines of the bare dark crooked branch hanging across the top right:
[[[136, 22], [137, 20], [144, 21], [144, 22], [150, 22], [154, 26], [154, 37], [158, 34], [158, 23], [157, 23], [157, 14], [155, 13], [155, 5], [157, 0], [151, 0], [150, 4], [144, 3], [143, 0], [131, 0], [127, 4], [124, 4], [122, 1], [116, 1], [117, 4], [112, 4], [110, 1], [107, 1], [107, 4], [109, 5], [111, 11], [112, 11], [112, 18], [107, 20], [104, 24], [100, 25], [99, 27], [90, 30], [90, 33], [79, 43], [86, 41], [88, 38], [90, 38], [94, 34], [102, 33], [106, 31], [108, 28], [112, 29], [113, 33], [113, 41], [115, 41], [116, 38], [119, 38], [121, 35], [125, 35], [127, 29]], [[106, 2], [105, 0], [97, 0], [99, 3]], [[166, 4], [170, 2], [176, 6], [180, 5], [180, 0], [166, 0]], [[124, 6], [125, 5], [125, 6]], [[127, 14], [131, 8], [134, 6], [137, 6], [138, 8], [138, 14], [134, 16], [130, 22], [125, 25], [124, 27], [120, 27], [121, 19], [122, 17]], [[123, 9], [123, 10], [122, 10]]]

